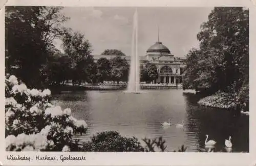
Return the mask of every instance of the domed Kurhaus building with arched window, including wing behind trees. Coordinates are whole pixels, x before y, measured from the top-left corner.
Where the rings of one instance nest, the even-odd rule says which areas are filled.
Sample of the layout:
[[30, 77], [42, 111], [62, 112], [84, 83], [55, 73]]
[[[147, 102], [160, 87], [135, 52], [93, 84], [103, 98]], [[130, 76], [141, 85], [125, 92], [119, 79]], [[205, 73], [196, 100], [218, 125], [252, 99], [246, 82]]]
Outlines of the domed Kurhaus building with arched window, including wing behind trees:
[[[94, 60], [100, 58], [112, 59], [113, 55], [94, 55]], [[130, 62], [130, 56], [123, 56], [127, 62]], [[156, 42], [150, 46], [144, 56], [140, 56], [140, 63], [151, 62], [156, 65], [158, 70], [158, 79], [152, 84], [177, 85], [182, 83], [182, 73], [185, 68], [185, 57], [175, 57], [170, 50], [162, 44]]]

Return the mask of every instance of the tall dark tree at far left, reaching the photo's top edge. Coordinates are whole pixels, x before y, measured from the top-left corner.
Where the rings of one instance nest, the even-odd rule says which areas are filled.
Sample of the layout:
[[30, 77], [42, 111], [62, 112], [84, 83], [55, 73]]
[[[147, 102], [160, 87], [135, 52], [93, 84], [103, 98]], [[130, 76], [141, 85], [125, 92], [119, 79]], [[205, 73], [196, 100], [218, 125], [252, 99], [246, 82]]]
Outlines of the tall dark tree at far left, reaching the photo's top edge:
[[6, 73], [12, 73], [28, 85], [41, 87], [42, 67], [52, 53], [53, 40], [68, 20], [60, 7], [6, 7]]

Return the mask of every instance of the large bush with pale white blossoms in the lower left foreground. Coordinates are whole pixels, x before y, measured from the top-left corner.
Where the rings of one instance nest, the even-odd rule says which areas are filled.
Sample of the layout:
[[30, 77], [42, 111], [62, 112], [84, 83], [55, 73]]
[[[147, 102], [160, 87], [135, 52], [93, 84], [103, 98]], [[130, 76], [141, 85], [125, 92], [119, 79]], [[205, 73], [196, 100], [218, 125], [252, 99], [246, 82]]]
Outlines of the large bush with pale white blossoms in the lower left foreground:
[[73, 151], [72, 136], [86, 133], [87, 124], [71, 109], [50, 103], [51, 91], [28, 89], [11, 75], [5, 79], [7, 151]]

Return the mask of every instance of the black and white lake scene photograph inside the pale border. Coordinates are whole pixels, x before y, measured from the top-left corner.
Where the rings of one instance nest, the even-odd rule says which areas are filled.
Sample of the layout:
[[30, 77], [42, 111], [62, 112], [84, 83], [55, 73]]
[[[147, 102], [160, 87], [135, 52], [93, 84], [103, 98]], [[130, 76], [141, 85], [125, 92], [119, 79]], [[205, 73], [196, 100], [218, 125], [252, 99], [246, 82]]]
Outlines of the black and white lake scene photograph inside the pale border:
[[7, 152], [249, 153], [249, 116], [247, 7], [5, 7]]

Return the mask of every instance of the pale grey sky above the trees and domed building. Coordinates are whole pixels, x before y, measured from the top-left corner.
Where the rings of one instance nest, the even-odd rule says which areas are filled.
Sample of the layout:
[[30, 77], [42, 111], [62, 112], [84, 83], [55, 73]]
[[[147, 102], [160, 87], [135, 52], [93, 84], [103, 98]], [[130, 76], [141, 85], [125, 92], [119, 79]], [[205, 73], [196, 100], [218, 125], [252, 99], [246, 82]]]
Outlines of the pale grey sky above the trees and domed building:
[[[119, 49], [131, 54], [135, 7], [65, 7], [62, 12], [70, 20], [63, 25], [84, 35], [92, 44], [92, 54], [105, 49]], [[177, 57], [184, 57], [198, 47], [197, 33], [207, 21], [212, 8], [205, 7], [137, 7], [138, 54], [161, 41]], [[55, 45], [61, 50], [61, 41]]]

